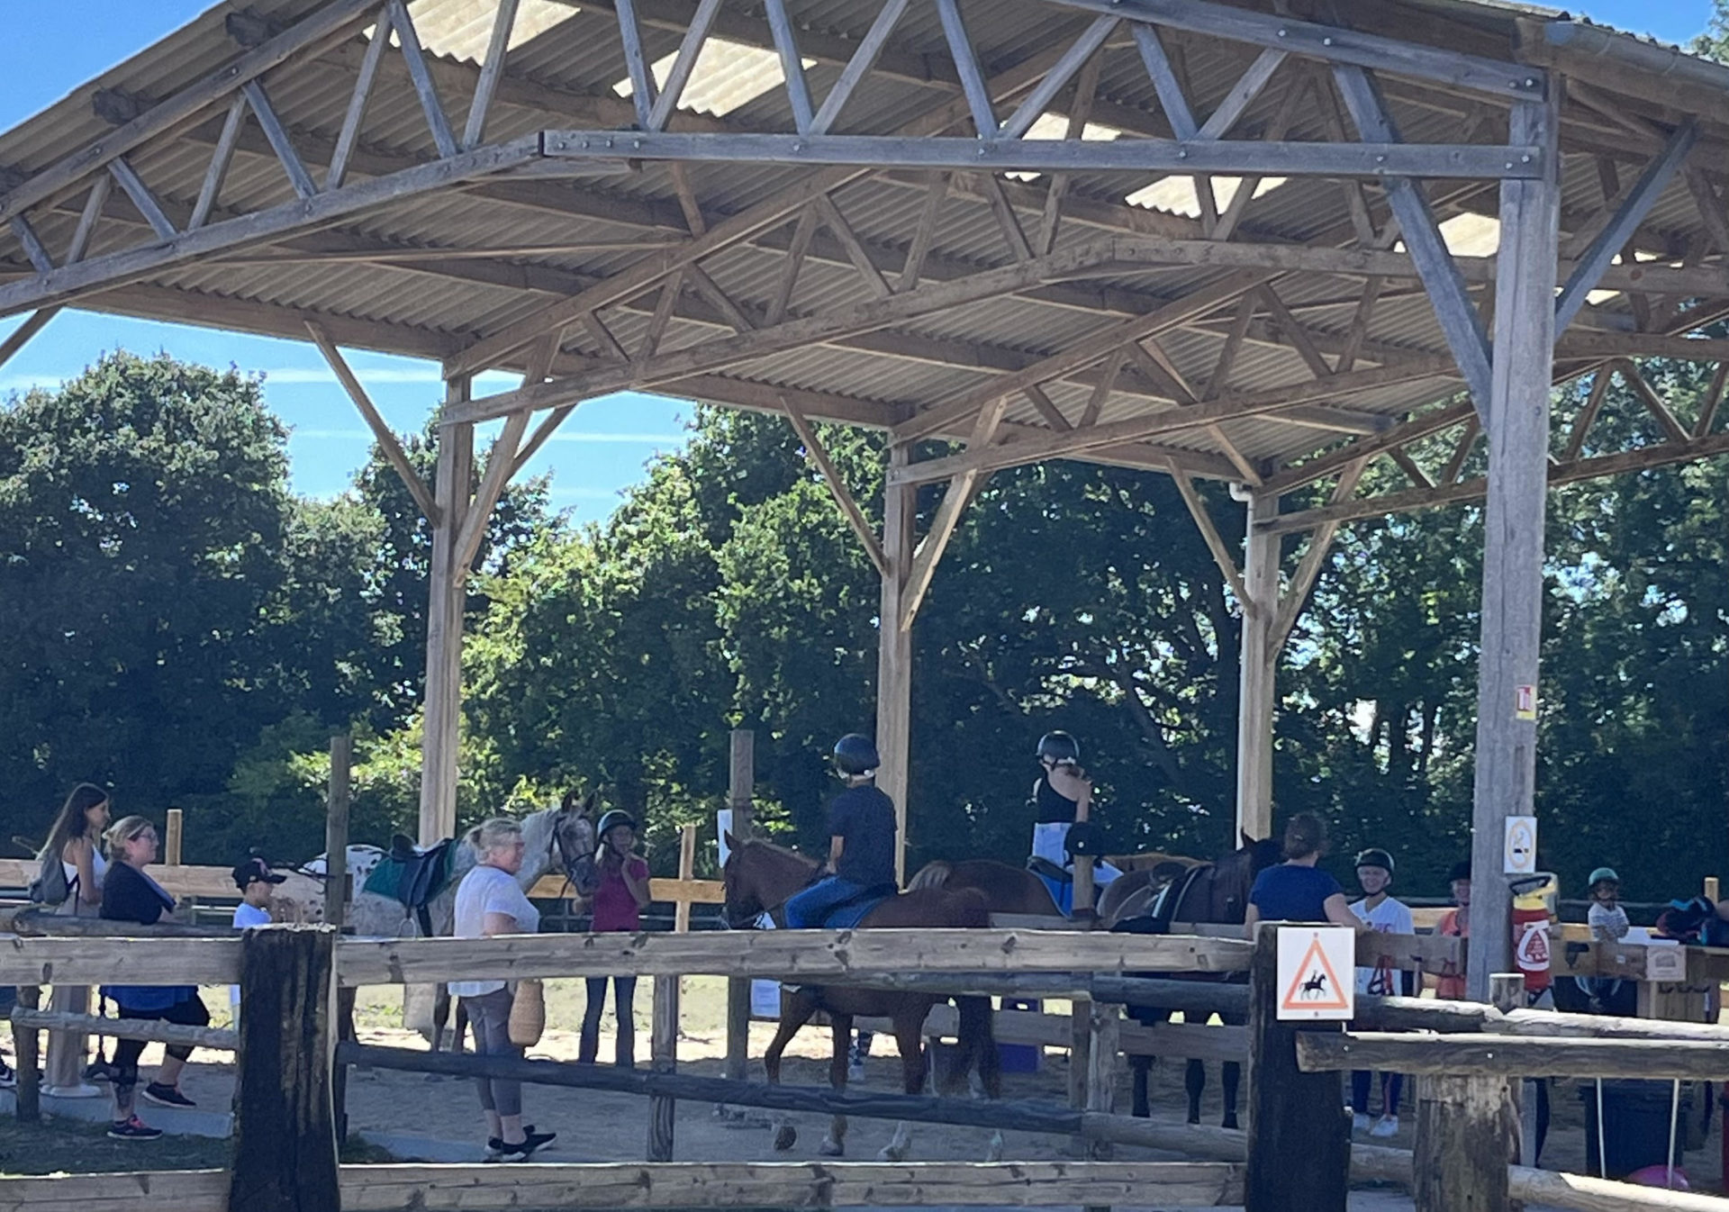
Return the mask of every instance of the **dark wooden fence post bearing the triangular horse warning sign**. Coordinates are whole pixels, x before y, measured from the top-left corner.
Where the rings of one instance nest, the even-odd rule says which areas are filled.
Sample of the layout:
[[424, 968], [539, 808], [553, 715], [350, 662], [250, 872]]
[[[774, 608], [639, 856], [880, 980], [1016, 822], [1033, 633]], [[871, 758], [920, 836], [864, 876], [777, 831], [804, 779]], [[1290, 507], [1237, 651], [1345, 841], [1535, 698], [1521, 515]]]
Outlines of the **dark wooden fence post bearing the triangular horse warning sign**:
[[[1300, 1030], [1343, 1024], [1279, 1022], [1279, 934], [1262, 923], [1250, 960], [1247, 1212], [1345, 1212], [1350, 1112], [1338, 1074], [1297, 1068]], [[1464, 1207], [1464, 1205], [1459, 1205]]]

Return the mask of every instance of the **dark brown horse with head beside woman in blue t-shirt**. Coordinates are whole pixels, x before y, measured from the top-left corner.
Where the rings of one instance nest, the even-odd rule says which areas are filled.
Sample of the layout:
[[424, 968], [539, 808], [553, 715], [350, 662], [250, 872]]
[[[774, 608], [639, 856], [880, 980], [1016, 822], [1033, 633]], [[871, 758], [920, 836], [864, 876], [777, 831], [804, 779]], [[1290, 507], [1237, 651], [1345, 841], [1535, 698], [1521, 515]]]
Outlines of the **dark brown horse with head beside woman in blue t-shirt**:
[[[1176, 925], [1184, 922], [1196, 925], [1243, 925], [1248, 911], [1248, 890], [1255, 883], [1255, 877], [1278, 861], [1278, 840], [1257, 842], [1245, 833], [1240, 849], [1215, 863], [1195, 866], [1167, 883], [1148, 916], [1120, 922], [1113, 928], [1132, 930], [1136, 934], [1169, 934]], [[1215, 977], [1196, 979], [1209, 980]], [[1145, 1024], [1171, 1018], [1167, 1010], [1157, 1006], [1129, 1006], [1129, 1015]], [[1221, 1018], [1229, 1025], [1243, 1024], [1241, 1015], [1221, 1013]], [[1152, 1113], [1146, 1098], [1146, 1082], [1153, 1058], [1131, 1056], [1129, 1065], [1134, 1070], [1132, 1113], [1146, 1119]], [[1240, 1063], [1235, 1060], [1224, 1062], [1224, 1127], [1236, 1127], [1236, 1091], [1241, 1075], [1243, 1067]], [[1200, 1124], [1200, 1096], [1207, 1089], [1207, 1067], [1200, 1060], [1190, 1058], [1183, 1074], [1183, 1086], [1190, 1100], [1188, 1122]]]

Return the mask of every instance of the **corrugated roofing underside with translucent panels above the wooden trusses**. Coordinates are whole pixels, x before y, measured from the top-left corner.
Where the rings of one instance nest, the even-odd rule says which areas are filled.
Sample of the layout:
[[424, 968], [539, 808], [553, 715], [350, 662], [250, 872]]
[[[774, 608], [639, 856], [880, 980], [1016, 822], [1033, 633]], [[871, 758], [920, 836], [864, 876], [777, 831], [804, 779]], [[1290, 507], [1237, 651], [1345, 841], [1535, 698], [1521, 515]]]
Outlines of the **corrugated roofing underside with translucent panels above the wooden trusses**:
[[[0, 169], [29, 175], [105, 135], [111, 126], [95, 112], [99, 90], [119, 92], [138, 105], [150, 105], [232, 62], [242, 47], [228, 33], [228, 19], [246, 14], [282, 29], [316, 10], [323, 0], [228, 0], [199, 16], [183, 29], [144, 48], [104, 73], [90, 85], [41, 114], [0, 135]], [[508, 73], [488, 123], [488, 138], [505, 140], [558, 128], [622, 128], [631, 121], [631, 102], [622, 95], [628, 80], [622, 41], [612, 0], [522, 0], [510, 40]], [[1271, 0], [1238, 7], [1271, 10]], [[643, 50], [659, 78], [681, 41], [678, 22], [669, 19], [688, 5], [641, 3]], [[875, 0], [788, 0], [801, 31], [806, 74], [816, 104], [840, 74], [844, 52], [870, 28]], [[1444, 45], [1470, 54], [1511, 57], [1516, 19], [1556, 19], [1537, 5], [1499, 0], [1345, 0], [1345, 19], [1361, 28], [1397, 31], [1400, 36]], [[493, 33], [493, 0], [413, 0], [410, 12], [427, 52], [434, 81], [462, 130], [479, 64]], [[1041, 0], [963, 0], [963, 12], [989, 73], [1003, 71], [1072, 41], [1091, 14]], [[316, 180], [323, 178], [354, 74], [367, 50], [370, 31], [329, 45], [316, 59], [290, 61], [265, 78], [270, 99], [290, 130], [292, 140]], [[782, 86], [782, 64], [773, 52], [759, 3], [728, 0], [718, 41], [704, 52], [674, 119], [674, 130], [785, 131], [792, 128], [790, 105]], [[1169, 31], [1165, 45], [1198, 114], [1205, 116], [1231, 90], [1259, 50], [1190, 33]], [[1726, 76], [1729, 78], [1729, 76]], [[894, 31], [880, 62], [845, 109], [839, 131], [892, 131], [953, 102], [953, 64], [935, 5], [915, 0]], [[1411, 142], [1451, 142], [1475, 130], [1478, 140], [1499, 138], [1504, 112], [1482, 97], [1444, 90], [1433, 83], [1383, 78], [1388, 102], [1404, 137]], [[1601, 85], [1591, 81], [1601, 92]], [[1605, 93], [1617, 100], [1611, 93]], [[1563, 173], [1563, 228], [1589, 225], [1606, 194], [1636, 176], [1649, 152], [1636, 130], [1641, 121], [1677, 119], [1653, 112], [1648, 100], [1625, 102], [1627, 116], [1603, 114], [1568, 100], [1565, 133], [1570, 156]], [[1269, 124], [1290, 118], [1288, 138], [1324, 140], [1331, 90], [1312, 66], [1290, 61], [1238, 121], [1238, 137], [1257, 137]], [[1060, 95], [1046, 111], [1039, 131], [1058, 131], [1067, 100]], [[1169, 137], [1169, 123], [1145, 67], [1127, 38], [1115, 38], [1100, 71], [1094, 135], [1120, 138]], [[221, 107], [204, 121], [171, 131], [130, 156], [140, 176], [163, 201], [176, 223], [183, 223], [199, 194], [211, 149], [221, 124]], [[1347, 123], [1349, 128], [1349, 123]], [[1719, 118], [1707, 121], [1712, 147], [1729, 135]], [[420, 102], [399, 55], [387, 54], [367, 109], [360, 150], [349, 180], [392, 173], [436, 156]], [[693, 164], [688, 180], [707, 223], [718, 223], [802, 182], [809, 168], [787, 164]], [[1720, 171], [1720, 169], [1713, 169]], [[1027, 232], [1037, 232], [1044, 194], [1041, 176], [1001, 182]], [[1229, 204], [1235, 180], [1215, 183], [1221, 209]], [[847, 185], [833, 201], [866, 246], [873, 263], [894, 282], [911, 233], [927, 204], [922, 173], [880, 173]], [[1196, 185], [1191, 178], [1164, 180], [1145, 173], [1075, 173], [1067, 182], [1069, 206], [1056, 247], [1074, 247], [1108, 232], [1198, 235]], [[1238, 239], [1271, 244], [1305, 242], [1350, 247], [1356, 244], [1347, 209], [1347, 183], [1323, 178], [1267, 178], [1257, 183]], [[1383, 214], [1378, 190], [1369, 201]], [[1445, 233], [1461, 254], [1490, 252], [1497, 237], [1497, 190], [1494, 183], [1444, 182], [1432, 187], [1437, 211], [1449, 218]], [[240, 214], [290, 201], [292, 190], [261, 131], [251, 126], [225, 180], [216, 218]], [[927, 280], [953, 278], [1011, 263], [998, 218], [980, 182], [953, 182], [942, 204]], [[1127, 199], [1136, 199], [1131, 206]], [[31, 221], [48, 244], [61, 249], [71, 239], [83, 204], [80, 190], [67, 190], [31, 213]], [[794, 220], [761, 232], [704, 261], [726, 294], [749, 315], [761, 318], [775, 297], [792, 240]], [[104, 256], [144, 239], [142, 216], [114, 192], [99, 226], [92, 256]], [[636, 171], [579, 180], [494, 178], [436, 194], [403, 199], [316, 232], [304, 232], [270, 251], [239, 251], [201, 263], [178, 265], [142, 278], [85, 306], [130, 315], [232, 325], [287, 337], [304, 334], [308, 318], [332, 322], [332, 330], [349, 344], [412, 354], [450, 354], [477, 339], [534, 315], [586, 285], [612, 277], [652, 247], [617, 247], [640, 240], [664, 244], [686, 235], [685, 214], [673, 171], [645, 164]], [[1565, 239], [1563, 239], [1565, 242]], [[1641, 225], [1641, 247], [1681, 261], [1717, 258], [1696, 202], [1684, 182], [1672, 185]], [[360, 252], [373, 259], [353, 259]], [[412, 259], [392, 259], [403, 251]], [[450, 251], [431, 258], [427, 251]], [[456, 256], [458, 252], [470, 256]], [[486, 256], [472, 256], [482, 251]], [[341, 261], [318, 258], [344, 256]], [[1712, 261], [1720, 263], [1720, 261]], [[0, 275], [28, 273], [14, 246], [0, 261]], [[894, 405], [899, 413], [935, 406], [977, 391], [992, 377], [1018, 370], [1062, 351], [1131, 315], [1141, 315], [1181, 299], [1222, 277], [1221, 270], [1150, 266], [1088, 282], [1058, 284], [922, 316], [899, 329], [837, 341], [792, 353], [778, 353], [735, 365], [724, 375], [738, 384], [733, 403], [759, 405], [761, 387], [814, 392], [837, 401]], [[686, 284], [688, 285], [688, 284]], [[1347, 344], [1357, 315], [1361, 278], [1330, 275], [1286, 275], [1278, 296], [1295, 313], [1304, 334], [1323, 354], [1337, 356]], [[851, 263], [835, 232], [820, 232], [806, 268], [792, 292], [792, 315], [811, 315], [847, 306], [866, 297], [866, 284]], [[603, 313], [605, 323], [626, 349], [643, 341], [659, 299], [659, 287]], [[1231, 330], [1235, 303], [1214, 315], [1160, 335], [1158, 349], [1186, 384], [1202, 392], [1212, 384], [1221, 349]], [[1622, 296], [1603, 299], [1589, 323], [1625, 327], [1630, 316]], [[341, 323], [334, 323], [341, 322]], [[662, 351], [674, 351], [730, 332], [726, 318], [709, 301], [686, 294], [679, 315], [662, 339]], [[1392, 356], [1445, 353], [1433, 311], [1414, 280], [1388, 282], [1373, 309], [1357, 367], [1373, 367]], [[572, 325], [565, 334], [567, 358], [600, 358], [595, 337]], [[520, 354], [517, 354], [520, 358]], [[576, 363], [572, 363], [576, 365]], [[569, 367], [567, 367], [569, 368]], [[1074, 420], [1086, 408], [1100, 380], [1100, 367], [1084, 367], [1048, 387], [1051, 399]], [[1269, 391], [1312, 380], [1297, 342], [1279, 330], [1278, 318], [1259, 308], [1248, 339], [1229, 375], [1212, 384], [1215, 391]], [[1337, 405], [1349, 413], [1404, 415], [1414, 406], [1456, 391], [1451, 379], [1425, 379], [1376, 392], [1352, 394]], [[724, 401], [723, 401], [724, 403]], [[1179, 406], [1171, 387], [1141, 367], [1127, 367], [1103, 398], [1100, 422], [1141, 417]], [[1010, 422], [1043, 427], [1039, 411], [1017, 398]], [[1350, 424], [1349, 418], [1345, 424]], [[1361, 422], [1357, 422], [1361, 424]], [[1317, 429], [1314, 417], [1297, 424], [1255, 415], [1224, 422], [1231, 446], [1257, 463], [1279, 465], [1300, 460], [1331, 443], [1343, 431]], [[1193, 467], [1203, 474], [1228, 475], [1226, 450], [1207, 429], [1164, 434], [1157, 450], [1193, 451]], [[1157, 455], [1148, 448], [1148, 458]]]

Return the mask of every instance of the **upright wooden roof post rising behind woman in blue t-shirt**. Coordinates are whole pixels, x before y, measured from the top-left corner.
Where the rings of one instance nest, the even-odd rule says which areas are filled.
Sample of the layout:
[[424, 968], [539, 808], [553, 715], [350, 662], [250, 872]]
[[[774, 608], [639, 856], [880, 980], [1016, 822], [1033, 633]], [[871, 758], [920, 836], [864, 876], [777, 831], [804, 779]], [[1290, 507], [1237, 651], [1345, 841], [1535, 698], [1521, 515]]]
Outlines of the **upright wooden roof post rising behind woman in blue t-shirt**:
[[1273, 631], [1279, 605], [1279, 536], [1255, 522], [1276, 517], [1278, 493], [1248, 498], [1248, 539], [1243, 553], [1243, 641], [1236, 698], [1236, 833], [1273, 837], [1273, 702], [1278, 654]]

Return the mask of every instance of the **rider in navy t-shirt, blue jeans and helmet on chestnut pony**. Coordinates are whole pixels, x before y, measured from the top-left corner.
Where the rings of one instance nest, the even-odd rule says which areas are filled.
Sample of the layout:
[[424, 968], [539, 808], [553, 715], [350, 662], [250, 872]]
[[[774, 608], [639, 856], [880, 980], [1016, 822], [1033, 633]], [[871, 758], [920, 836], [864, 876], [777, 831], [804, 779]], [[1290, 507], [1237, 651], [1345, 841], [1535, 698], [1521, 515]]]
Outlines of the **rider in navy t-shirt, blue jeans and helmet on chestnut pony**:
[[896, 889], [894, 801], [877, 788], [880, 764], [870, 737], [847, 733], [835, 742], [835, 773], [845, 790], [828, 806], [828, 861], [816, 870], [820, 878], [787, 899], [790, 928], [820, 927], [847, 901]]

